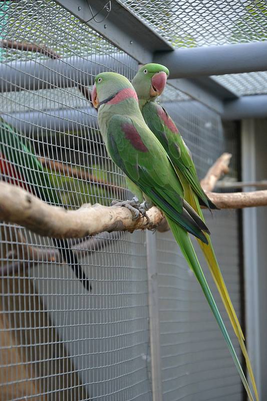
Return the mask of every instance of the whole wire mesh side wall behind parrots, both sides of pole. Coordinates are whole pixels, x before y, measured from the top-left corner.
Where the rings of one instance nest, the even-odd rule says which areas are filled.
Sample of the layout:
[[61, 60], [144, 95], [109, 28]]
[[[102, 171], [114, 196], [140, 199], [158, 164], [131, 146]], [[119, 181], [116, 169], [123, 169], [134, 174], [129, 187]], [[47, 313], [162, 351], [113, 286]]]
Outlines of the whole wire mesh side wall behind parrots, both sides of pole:
[[[53, 1], [0, 2], [0, 28], [1, 179], [68, 209], [131, 196], [103, 146], [90, 88], [100, 71], [131, 79], [137, 62]], [[219, 116], [171, 87], [162, 100], [202, 177], [231, 150]], [[217, 216], [208, 225], [239, 311], [237, 216]], [[3, 401], [151, 400], [144, 233], [59, 244], [0, 227]], [[174, 240], [157, 234], [157, 243], [164, 401], [240, 399], [231, 357]], [[71, 255], [90, 293], [62, 262]]]

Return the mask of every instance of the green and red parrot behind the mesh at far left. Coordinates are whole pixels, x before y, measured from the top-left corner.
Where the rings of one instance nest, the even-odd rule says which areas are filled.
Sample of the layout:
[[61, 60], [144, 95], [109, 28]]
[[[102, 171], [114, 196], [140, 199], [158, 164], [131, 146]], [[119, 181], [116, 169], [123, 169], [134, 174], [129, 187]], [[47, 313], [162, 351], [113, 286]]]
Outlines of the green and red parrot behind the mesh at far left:
[[[13, 185], [18, 185], [48, 203], [61, 204], [58, 191], [52, 186], [48, 173], [38, 160], [30, 142], [20, 137], [15, 128], [0, 117], [0, 177]], [[67, 240], [53, 239], [62, 259], [73, 269], [84, 288], [91, 290], [76, 255], [69, 249]]]

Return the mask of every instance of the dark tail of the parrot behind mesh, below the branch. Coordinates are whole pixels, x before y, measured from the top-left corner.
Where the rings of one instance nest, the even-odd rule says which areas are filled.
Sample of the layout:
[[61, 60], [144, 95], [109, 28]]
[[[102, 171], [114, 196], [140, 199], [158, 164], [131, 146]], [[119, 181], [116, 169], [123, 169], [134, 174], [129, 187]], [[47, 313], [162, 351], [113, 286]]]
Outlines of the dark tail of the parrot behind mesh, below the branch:
[[88, 278], [86, 277], [86, 274], [82, 269], [82, 266], [79, 264], [77, 256], [74, 255], [73, 250], [69, 248], [67, 240], [54, 238], [53, 242], [57, 246], [62, 256], [62, 259], [72, 268], [72, 270], [75, 273], [75, 276], [80, 280], [84, 288], [90, 292], [92, 289], [91, 284]]

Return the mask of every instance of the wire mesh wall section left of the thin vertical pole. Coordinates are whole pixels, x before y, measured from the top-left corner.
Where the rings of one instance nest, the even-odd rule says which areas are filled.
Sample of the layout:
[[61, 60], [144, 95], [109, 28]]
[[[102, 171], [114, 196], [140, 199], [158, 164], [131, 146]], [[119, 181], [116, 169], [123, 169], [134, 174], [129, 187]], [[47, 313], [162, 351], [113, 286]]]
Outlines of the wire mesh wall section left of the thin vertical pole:
[[[2, 179], [65, 208], [126, 198], [89, 88], [101, 70], [131, 79], [137, 63], [55, 2], [0, 7]], [[144, 241], [104, 233], [57, 249], [1, 225], [3, 400], [151, 399]], [[69, 250], [91, 293], [61, 262]]]

